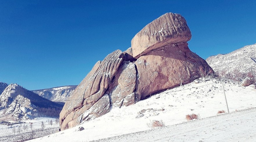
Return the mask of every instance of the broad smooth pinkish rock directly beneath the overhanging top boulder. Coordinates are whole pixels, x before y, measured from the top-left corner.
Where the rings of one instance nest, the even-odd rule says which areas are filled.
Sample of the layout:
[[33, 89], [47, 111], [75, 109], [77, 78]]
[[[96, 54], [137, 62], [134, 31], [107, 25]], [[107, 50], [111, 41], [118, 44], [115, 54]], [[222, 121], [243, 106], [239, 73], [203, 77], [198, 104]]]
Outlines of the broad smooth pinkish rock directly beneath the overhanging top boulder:
[[150, 94], [180, 85], [179, 74], [184, 75], [182, 84], [200, 77], [198, 67], [210, 66], [188, 48], [188, 43], [177, 43], [157, 48], [135, 61], [138, 73], [136, 101]]

